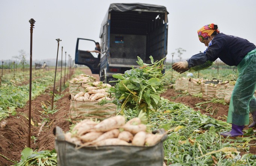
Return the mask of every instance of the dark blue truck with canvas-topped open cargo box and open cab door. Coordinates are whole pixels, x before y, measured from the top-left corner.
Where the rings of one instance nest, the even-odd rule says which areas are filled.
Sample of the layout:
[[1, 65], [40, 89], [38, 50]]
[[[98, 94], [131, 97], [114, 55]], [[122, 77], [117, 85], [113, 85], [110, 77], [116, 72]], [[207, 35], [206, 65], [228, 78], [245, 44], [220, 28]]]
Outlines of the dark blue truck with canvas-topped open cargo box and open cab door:
[[137, 56], [148, 64], [150, 56], [154, 61], [165, 58], [167, 15], [166, 7], [154, 4], [110, 4], [101, 23], [100, 56], [82, 48], [83, 41], [95, 44], [94, 40], [77, 38], [75, 64], [88, 66], [100, 81], [110, 83], [116, 80], [113, 74], [140, 67]]

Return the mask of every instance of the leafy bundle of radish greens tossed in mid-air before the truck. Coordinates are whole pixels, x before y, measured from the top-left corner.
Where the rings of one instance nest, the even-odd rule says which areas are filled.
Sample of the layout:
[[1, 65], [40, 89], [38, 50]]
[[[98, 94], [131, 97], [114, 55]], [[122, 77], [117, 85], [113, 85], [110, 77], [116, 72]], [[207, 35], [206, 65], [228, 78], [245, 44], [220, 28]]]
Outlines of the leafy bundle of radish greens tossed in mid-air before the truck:
[[116, 103], [121, 103], [121, 113], [124, 109], [142, 110], [149, 116], [149, 111], [161, 107], [160, 94], [165, 92], [162, 84], [164, 74], [164, 59], [154, 62], [150, 56], [151, 64], [143, 63], [138, 57], [139, 68], [132, 68], [124, 74], [115, 74], [118, 79], [112, 91], [116, 96]]

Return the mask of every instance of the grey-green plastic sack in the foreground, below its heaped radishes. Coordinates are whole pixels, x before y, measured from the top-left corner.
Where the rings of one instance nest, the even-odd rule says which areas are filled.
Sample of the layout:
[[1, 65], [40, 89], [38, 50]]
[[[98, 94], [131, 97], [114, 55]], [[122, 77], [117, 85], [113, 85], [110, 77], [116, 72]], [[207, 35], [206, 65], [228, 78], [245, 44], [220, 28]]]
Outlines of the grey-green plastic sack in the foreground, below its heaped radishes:
[[58, 166], [162, 166], [164, 162], [163, 141], [167, 135], [153, 146], [90, 145], [76, 149], [75, 144], [65, 141], [58, 126], [54, 134]]

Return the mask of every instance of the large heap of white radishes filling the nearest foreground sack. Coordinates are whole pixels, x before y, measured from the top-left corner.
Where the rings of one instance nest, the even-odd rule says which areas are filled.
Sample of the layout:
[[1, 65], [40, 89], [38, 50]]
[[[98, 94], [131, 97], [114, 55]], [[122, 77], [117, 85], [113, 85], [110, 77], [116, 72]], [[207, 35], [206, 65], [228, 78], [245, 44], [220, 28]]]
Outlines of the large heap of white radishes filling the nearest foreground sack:
[[[71, 134], [72, 133], [72, 134]], [[72, 132], [65, 134], [65, 140], [80, 147], [88, 145], [134, 145], [153, 146], [164, 134], [147, 132], [147, 126], [140, 118], [125, 123], [125, 117], [118, 115], [97, 123], [90, 119], [82, 120], [74, 126]]]

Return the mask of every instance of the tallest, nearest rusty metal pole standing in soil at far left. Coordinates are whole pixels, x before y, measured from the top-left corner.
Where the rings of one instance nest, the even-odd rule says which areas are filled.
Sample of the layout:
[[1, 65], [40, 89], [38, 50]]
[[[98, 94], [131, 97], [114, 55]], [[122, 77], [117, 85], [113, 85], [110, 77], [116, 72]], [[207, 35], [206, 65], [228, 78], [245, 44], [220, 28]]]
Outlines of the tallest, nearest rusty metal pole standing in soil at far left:
[[32, 41], [33, 41], [33, 26], [36, 21], [31, 18], [30, 23], [30, 70], [29, 70], [29, 115], [28, 115], [28, 143], [27, 147], [30, 148], [31, 137], [31, 89], [32, 89]]

